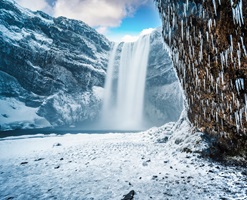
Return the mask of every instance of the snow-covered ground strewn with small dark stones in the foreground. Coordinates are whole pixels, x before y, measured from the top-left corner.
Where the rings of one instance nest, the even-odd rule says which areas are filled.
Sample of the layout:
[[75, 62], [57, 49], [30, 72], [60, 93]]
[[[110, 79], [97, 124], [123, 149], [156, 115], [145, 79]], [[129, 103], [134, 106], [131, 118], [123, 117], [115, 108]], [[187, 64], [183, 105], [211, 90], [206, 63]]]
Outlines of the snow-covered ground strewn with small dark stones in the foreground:
[[[200, 158], [188, 123], [142, 133], [1, 139], [0, 199], [247, 199], [247, 171]], [[158, 141], [158, 142], [157, 142]]]

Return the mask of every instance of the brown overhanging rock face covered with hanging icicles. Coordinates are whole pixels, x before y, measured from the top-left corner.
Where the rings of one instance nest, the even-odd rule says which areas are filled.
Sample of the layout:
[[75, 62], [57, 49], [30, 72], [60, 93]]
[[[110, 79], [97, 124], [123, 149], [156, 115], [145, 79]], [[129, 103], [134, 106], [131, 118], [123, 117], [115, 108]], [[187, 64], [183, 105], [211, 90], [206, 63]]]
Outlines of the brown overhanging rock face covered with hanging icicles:
[[247, 1], [156, 0], [188, 117], [220, 153], [247, 149]]

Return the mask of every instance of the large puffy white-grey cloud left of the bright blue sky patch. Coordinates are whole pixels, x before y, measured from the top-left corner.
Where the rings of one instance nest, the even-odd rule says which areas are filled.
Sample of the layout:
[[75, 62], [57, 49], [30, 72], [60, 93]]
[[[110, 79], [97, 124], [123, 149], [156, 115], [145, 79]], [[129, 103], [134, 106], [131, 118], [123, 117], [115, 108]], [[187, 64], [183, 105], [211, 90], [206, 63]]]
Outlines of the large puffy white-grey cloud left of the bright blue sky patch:
[[118, 27], [148, 0], [57, 0], [54, 15], [79, 19], [94, 27]]

